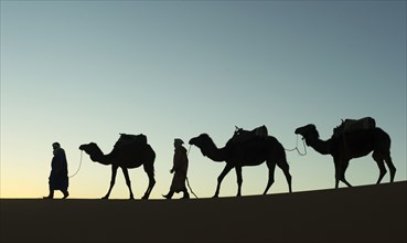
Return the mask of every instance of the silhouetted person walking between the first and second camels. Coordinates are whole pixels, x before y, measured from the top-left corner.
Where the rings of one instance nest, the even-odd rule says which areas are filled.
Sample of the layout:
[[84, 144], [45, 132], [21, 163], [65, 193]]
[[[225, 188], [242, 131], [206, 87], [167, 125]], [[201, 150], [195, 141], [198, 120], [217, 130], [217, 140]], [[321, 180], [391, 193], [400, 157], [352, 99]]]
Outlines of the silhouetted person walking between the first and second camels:
[[174, 158], [173, 158], [173, 167], [170, 170], [171, 173], [174, 173], [174, 177], [172, 178], [172, 183], [170, 191], [168, 194], [162, 196], [167, 199], [171, 199], [174, 192], [184, 192], [184, 199], [189, 199], [190, 194], [188, 193], [186, 187], [185, 187], [185, 180], [186, 180], [186, 171], [188, 171], [188, 156], [186, 156], [186, 149], [182, 146], [184, 142], [180, 138], [174, 139]]

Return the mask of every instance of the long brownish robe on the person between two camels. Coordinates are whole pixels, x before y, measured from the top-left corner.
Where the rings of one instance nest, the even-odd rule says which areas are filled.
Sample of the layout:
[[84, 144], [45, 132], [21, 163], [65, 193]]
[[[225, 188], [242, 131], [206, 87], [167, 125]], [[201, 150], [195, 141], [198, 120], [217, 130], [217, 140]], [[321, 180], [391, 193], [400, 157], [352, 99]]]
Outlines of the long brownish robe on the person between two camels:
[[185, 179], [188, 171], [188, 156], [186, 149], [182, 146], [175, 148], [174, 158], [173, 158], [173, 167], [174, 177], [172, 178], [171, 191], [181, 192], [185, 190]]

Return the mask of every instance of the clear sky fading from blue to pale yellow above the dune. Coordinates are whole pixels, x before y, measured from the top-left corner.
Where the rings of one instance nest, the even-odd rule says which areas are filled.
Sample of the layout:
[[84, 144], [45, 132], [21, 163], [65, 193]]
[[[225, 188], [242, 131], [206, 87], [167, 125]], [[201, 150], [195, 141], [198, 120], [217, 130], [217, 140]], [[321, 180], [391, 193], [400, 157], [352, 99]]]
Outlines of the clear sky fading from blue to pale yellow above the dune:
[[[390, 135], [406, 180], [406, 1], [1, 1], [1, 198], [47, 194], [53, 141], [72, 175], [81, 144], [107, 154], [119, 133], [147, 135], [159, 199], [175, 137], [207, 133], [223, 147], [235, 125], [266, 125], [293, 148], [299, 126], [328, 139], [341, 118], [364, 116]], [[293, 191], [334, 187], [330, 156], [287, 156]], [[212, 197], [224, 163], [196, 147], [189, 157], [193, 190]], [[265, 163], [244, 168], [243, 194], [263, 193], [267, 176]], [[372, 184], [378, 168], [367, 156], [346, 176]], [[130, 178], [140, 198], [147, 175]], [[100, 198], [109, 181], [110, 168], [84, 155], [71, 198]], [[221, 197], [236, 190], [231, 171]], [[269, 193], [287, 191], [276, 169]], [[128, 196], [119, 170], [111, 198]]]

